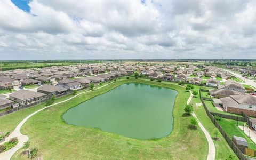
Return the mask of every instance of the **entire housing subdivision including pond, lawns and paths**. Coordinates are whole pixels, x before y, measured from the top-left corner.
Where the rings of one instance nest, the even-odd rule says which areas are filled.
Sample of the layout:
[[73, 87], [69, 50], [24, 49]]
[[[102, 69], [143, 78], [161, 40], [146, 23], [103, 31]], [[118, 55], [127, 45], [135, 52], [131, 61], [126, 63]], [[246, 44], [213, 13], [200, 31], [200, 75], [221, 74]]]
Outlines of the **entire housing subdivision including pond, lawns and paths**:
[[0, 159], [255, 156], [255, 87], [230, 66], [109, 61], [0, 75]]

